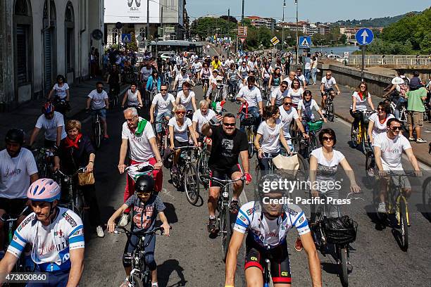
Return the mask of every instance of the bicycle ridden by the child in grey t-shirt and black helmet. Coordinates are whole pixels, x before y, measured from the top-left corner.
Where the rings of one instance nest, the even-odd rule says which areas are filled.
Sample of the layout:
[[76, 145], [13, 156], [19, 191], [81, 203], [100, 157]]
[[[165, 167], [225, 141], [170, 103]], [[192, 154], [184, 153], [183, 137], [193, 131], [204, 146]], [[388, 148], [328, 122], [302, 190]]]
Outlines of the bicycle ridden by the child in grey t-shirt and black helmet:
[[[125, 227], [115, 227], [115, 234], [125, 234], [127, 239], [130, 240], [130, 236], [133, 234], [137, 235], [138, 241], [135, 250], [127, 260], [132, 262], [132, 272], [129, 276], [130, 287], [151, 287], [151, 270], [145, 262], [145, 248], [148, 247], [151, 242], [151, 238], [156, 235], [163, 235], [163, 227], [156, 227], [153, 231], [149, 232], [133, 232], [128, 231]], [[122, 231], [118, 230], [121, 229]], [[172, 227], [170, 227], [172, 229]], [[161, 231], [160, 233], [158, 233]], [[146, 236], [150, 236], [149, 241], [145, 244]]]

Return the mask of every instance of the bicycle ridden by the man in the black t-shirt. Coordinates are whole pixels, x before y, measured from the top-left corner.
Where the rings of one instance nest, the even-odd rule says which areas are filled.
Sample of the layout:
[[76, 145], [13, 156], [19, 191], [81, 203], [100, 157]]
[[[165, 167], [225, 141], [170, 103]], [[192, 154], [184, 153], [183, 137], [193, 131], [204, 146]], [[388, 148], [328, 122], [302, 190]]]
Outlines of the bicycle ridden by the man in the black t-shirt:
[[210, 177], [209, 175], [203, 174], [204, 179], [210, 181], [216, 181], [220, 184], [220, 196], [218, 196], [217, 203], [217, 224], [218, 224], [218, 234], [222, 236], [222, 260], [226, 261], [227, 249], [229, 248], [230, 236], [232, 235], [232, 224], [230, 222], [230, 184], [234, 184], [237, 181], [242, 181], [244, 184], [245, 177], [240, 177], [239, 179], [218, 179], [216, 177]]

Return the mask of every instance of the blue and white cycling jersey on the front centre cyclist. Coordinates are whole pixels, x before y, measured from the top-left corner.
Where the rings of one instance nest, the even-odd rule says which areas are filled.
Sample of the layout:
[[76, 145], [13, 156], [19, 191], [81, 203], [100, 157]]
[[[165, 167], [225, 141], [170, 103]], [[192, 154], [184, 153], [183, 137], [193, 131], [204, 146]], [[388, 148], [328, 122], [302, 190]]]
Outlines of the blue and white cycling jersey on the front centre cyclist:
[[299, 206], [288, 205], [286, 212], [271, 220], [261, 210], [256, 210], [254, 201], [251, 201], [239, 209], [234, 230], [245, 234], [248, 229], [256, 243], [264, 248], [275, 248], [285, 242], [287, 231], [292, 227], [296, 228], [299, 235], [310, 232], [304, 211]]

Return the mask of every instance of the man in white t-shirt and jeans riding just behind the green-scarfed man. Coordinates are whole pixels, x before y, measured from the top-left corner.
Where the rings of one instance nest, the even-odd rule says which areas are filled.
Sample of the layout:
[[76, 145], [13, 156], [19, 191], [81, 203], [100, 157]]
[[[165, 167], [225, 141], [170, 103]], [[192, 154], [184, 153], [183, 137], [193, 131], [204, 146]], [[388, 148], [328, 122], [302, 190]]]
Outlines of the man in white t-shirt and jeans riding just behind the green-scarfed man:
[[[168, 86], [162, 84], [160, 86], [160, 93], [154, 96], [150, 107], [150, 122], [151, 124], [156, 123], [157, 134], [162, 131], [161, 122], [170, 120], [172, 111], [176, 106], [177, 102], [175, 101], [175, 97], [173, 94], [168, 93]], [[156, 120], [154, 120], [154, 113], [156, 113]], [[160, 135], [158, 134], [158, 136]]]

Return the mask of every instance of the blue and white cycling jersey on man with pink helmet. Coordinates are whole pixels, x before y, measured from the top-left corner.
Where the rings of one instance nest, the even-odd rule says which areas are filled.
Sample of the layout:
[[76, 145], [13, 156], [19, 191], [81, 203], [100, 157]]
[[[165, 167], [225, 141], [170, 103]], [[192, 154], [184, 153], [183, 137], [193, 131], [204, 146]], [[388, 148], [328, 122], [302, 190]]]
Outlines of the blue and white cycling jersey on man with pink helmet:
[[32, 260], [42, 272], [68, 270], [69, 251], [84, 248], [84, 228], [80, 217], [67, 208], [58, 208], [54, 222], [44, 226], [35, 212], [25, 217], [13, 234], [8, 253], [20, 257], [25, 244], [32, 245]]

